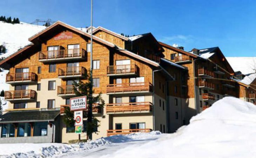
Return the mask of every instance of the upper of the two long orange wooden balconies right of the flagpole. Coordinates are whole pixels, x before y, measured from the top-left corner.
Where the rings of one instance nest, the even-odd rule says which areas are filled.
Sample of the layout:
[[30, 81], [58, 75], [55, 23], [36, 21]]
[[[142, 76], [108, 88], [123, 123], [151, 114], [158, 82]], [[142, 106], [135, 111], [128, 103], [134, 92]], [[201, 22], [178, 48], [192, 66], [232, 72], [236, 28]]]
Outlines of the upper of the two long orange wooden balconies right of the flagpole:
[[127, 93], [150, 93], [152, 84], [149, 82], [109, 84], [107, 94], [127, 94]]

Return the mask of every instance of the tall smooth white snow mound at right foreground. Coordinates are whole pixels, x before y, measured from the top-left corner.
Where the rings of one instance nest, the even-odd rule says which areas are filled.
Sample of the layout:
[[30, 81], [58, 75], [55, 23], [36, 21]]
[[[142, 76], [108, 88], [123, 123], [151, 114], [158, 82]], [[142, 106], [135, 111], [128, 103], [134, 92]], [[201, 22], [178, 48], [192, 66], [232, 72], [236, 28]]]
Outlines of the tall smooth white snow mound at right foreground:
[[256, 157], [256, 106], [225, 97], [174, 134], [102, 157]]

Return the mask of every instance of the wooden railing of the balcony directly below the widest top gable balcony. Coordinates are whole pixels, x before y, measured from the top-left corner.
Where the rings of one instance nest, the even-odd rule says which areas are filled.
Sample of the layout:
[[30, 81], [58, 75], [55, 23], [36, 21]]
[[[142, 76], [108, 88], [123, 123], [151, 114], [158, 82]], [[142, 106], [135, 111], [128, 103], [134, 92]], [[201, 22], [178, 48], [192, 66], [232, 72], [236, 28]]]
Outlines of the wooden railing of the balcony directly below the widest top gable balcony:
[[58, 70], [58, 76], [75, 76], [75, 75], [84, 75], [86, 73], [85, 67], [75, 66], [75, 67], [66, 67], [64, 69]]

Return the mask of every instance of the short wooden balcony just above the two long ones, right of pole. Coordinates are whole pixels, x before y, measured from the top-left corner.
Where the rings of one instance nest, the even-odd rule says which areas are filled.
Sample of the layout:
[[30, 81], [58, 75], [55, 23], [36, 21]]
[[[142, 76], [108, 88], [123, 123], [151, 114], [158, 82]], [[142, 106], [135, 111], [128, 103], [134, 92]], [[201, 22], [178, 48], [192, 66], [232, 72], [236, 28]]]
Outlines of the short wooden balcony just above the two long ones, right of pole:
[[137, 75], [137, 65], [113, 65], [107, 67], [107, 76]]

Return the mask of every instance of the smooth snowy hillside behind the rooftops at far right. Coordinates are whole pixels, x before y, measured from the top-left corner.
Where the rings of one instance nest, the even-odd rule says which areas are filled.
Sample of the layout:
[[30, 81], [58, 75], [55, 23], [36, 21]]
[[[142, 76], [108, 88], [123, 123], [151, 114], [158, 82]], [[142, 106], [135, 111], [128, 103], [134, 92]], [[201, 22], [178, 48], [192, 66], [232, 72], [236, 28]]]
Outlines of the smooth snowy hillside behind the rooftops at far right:
[[226, 57], [234, 71], [241, 71], [242, 74], [256, 72], [256, 57]]

